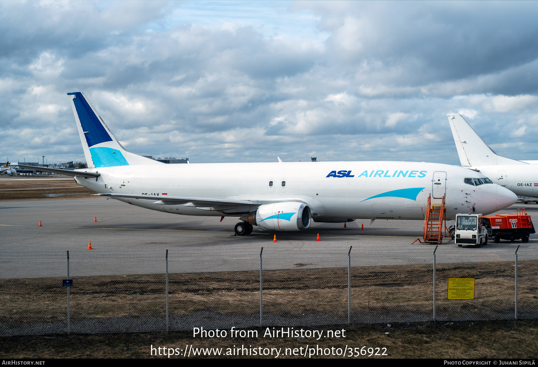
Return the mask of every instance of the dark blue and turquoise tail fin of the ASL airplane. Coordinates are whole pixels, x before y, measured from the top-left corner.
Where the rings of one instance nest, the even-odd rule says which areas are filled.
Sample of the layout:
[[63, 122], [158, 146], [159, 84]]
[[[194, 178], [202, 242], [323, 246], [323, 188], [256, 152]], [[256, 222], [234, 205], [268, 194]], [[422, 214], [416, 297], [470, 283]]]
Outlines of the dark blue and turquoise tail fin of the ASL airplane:
[[165, 164], [125, 150], [81, 92], [67, 93], [75, 114], [89, 168], [131, 164]]

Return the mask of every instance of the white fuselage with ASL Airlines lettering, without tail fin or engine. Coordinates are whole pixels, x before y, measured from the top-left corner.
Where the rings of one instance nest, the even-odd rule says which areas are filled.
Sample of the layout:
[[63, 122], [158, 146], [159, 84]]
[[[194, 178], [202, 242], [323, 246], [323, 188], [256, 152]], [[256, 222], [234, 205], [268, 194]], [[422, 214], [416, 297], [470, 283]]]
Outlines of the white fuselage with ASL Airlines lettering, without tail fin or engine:
[[[421, 162], [285, 162], [136, 164], [90, 168], [97, 178], [76, 181], [98, 193], [250, 200], [240, 208], [162, 205], [155, 199], [119, 198], [152, 210], [185, 215], [240, 216], [278, 200], [308, 204], [314, 218], [423, 220], [428, 197], [445, 196], [447, 220], [457, 213], [490, 214], [516, 196], [497, 184], [471, 186], [482, 174], [454, 165]], [[272, 182], [272, 186], [270, 183]], [[285, 182], [282, 185], [282, 182]], [[218, 208], [217, 208], [218, 209]]]

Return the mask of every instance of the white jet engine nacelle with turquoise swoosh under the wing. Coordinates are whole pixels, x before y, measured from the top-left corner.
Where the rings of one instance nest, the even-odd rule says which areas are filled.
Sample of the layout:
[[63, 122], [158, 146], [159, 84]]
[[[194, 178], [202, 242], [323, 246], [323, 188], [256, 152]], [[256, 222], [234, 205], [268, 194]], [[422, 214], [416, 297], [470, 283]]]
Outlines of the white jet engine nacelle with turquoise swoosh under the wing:
[[266, 204], [256, 211], [256, 225], [263, 231], [303, 231], [310, 227], [312, 213], [303, 203]]

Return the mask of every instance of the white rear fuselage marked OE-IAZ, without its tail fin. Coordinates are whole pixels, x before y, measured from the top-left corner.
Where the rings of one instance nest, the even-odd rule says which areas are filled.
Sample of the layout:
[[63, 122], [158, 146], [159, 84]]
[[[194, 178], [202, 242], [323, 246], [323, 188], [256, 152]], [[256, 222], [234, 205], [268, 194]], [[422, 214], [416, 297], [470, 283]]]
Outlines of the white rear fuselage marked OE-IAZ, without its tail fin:
[[470, 167], [515, 195], [538, 198], [538, 164], [497, 164]]

